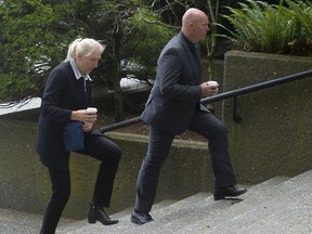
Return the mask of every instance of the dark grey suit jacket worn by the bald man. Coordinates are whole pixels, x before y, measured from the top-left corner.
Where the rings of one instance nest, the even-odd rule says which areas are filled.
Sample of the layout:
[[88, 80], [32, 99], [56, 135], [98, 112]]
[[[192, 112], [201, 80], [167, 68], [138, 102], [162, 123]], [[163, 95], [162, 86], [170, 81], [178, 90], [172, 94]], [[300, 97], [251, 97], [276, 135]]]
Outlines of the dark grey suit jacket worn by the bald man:
[[[190, 42], [188, 42], [190, 43]], [[184, 132], [195, 108], [200, 105], [200, 58], [194, 56], [182, 32], [174, 36], [161, 51], [154, 87], [141, 119], [171, 133]]]

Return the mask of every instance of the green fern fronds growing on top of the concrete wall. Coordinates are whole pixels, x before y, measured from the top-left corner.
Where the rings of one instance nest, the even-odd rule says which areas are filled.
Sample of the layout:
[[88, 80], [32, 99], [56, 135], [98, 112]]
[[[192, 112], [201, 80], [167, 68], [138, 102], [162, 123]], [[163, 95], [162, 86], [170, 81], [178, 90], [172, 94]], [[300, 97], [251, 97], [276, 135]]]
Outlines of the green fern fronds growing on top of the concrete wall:
[[[245, 51], [295, 55], [312, 54], [312, 3], [283, 0], [280, 4], [247, 0], [223, 15], [234, 25], [235, 48]], [[284, 4], [286, 3], [286, 5]]]

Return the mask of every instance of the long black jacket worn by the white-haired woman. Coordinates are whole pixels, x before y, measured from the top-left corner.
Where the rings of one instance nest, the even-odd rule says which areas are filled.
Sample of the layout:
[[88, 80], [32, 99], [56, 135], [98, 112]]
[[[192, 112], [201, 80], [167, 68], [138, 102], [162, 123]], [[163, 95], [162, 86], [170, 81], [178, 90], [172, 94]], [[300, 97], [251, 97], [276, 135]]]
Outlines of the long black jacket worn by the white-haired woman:
[[72, 110], [87, 108], [90, 100], [90, 81], [84, 94], [83, 81], [76, 79], [69, 62], [51, 72], [42, 96], [37, 138], [37, 152], [44, 166], [68, 170], [69, 153], [64, 150], [63, 128], [70, 121]]

